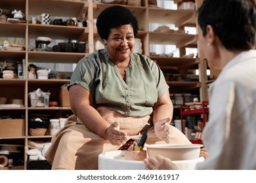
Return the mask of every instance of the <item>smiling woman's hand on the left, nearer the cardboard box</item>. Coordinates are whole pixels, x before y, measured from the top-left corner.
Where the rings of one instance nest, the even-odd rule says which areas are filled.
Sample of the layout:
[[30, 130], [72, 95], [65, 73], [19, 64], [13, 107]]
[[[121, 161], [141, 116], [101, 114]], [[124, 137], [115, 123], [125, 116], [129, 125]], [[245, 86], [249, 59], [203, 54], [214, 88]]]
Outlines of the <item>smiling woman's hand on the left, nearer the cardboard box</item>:
[[122, 146], [128, 140], [127, 134], [119, 130], [119, 123], [114, 122], [106, 129], [106, 139], [114, 146]]

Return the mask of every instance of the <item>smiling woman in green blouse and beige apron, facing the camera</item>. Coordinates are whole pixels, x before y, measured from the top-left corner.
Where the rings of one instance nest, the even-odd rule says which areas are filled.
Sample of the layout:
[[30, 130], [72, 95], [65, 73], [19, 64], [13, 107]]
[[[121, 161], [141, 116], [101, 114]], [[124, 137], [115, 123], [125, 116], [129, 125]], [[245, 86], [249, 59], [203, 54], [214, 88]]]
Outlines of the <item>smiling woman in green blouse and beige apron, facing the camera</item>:
[[190, 144], [169, 124], [173, 104], [160, 67], [133, 53], [137, 18], [114, 5], [99, 14], [96, 27], [106, 48], [85, 56], [72, 73], [68, 90], [74, 115], [45, 155], [52, 169], [97, 169], [99, 154], [118, 150], [147, 124], [147, 144]]

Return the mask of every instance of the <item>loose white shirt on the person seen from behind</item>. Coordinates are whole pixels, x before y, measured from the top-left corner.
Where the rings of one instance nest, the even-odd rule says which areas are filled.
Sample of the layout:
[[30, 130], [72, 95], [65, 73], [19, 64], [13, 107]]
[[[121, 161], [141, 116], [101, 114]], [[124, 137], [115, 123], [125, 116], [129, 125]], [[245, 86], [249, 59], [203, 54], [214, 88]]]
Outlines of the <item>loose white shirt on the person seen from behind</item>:
[[256, 50], [238, 54], [211, 84], [203, 143], [209, 157], [197, 169], [256, 169]]

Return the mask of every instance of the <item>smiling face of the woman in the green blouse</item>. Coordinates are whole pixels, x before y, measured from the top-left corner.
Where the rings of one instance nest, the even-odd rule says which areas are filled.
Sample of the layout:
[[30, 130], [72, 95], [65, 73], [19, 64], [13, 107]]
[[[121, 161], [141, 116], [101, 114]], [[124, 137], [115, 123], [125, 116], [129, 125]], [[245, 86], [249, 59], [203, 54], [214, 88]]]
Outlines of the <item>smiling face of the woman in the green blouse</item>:
[[104, 40], [104, 42], [113, 61], [120, 62], [130, 59], [130, 55], [135, 48], [133, 27], [128, 24], [110, 29], [108, 40]]

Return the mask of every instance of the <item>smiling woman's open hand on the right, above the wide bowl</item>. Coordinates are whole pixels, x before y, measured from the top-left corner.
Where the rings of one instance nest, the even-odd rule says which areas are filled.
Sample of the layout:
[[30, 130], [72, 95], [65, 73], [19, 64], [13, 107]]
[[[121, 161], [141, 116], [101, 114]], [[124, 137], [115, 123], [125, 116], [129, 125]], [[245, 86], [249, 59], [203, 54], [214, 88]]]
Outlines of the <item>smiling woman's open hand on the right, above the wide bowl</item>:
[[171, 125], [169, 121], [171, 118], [165, 118], [163, 120], [159, 120], [154, 124], [155, 134], [158, 139], [161, 139], [167, 144], [171, 142]]

